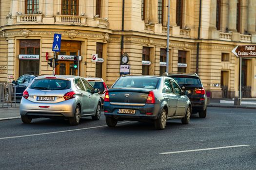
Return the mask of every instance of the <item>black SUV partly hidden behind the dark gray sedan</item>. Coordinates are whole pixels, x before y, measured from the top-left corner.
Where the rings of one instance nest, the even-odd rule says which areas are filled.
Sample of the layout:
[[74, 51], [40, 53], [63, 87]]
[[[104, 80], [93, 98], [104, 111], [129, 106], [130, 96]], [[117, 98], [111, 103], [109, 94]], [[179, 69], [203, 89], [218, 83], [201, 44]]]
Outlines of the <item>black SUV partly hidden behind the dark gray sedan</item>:
[[192, 113], [199, 113], [200, 118], [206, 117], [207, 96], [203, 84], [196, 73], [192, 74], [168, 74], [176, 80], [182, 90], [188, 91], [188, 98], [192, 103]]

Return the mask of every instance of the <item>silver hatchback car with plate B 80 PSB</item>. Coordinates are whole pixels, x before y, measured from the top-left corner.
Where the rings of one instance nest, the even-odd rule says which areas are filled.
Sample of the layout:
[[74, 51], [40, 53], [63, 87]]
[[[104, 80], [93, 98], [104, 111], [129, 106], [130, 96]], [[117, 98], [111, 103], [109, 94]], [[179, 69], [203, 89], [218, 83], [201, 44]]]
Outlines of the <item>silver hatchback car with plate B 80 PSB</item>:
[[69, 75], [36, 77], [23, 92], [20, 115], [23, 123], [34, 118], [65, 118], [78, 125], [81, 117], [98, 120], [101, 100], [98, 89], [84, 78]]

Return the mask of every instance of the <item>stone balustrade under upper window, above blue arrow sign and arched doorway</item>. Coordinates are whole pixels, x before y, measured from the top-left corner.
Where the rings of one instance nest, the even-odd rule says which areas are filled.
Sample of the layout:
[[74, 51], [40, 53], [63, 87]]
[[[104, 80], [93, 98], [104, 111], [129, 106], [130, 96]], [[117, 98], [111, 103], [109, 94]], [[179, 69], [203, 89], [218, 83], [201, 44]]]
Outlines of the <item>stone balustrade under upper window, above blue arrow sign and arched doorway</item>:
[[83, 16], [56, 15], [55, 20], [55, 24], [86, 25], [86, 19]]

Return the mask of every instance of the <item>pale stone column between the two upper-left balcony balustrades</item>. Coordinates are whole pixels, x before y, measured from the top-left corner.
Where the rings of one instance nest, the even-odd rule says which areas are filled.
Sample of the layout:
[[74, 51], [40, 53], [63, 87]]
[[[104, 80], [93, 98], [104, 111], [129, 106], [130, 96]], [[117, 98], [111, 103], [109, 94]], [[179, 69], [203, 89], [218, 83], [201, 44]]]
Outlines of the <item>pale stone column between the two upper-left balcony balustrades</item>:
[[45, 0], [45, 17], [43, 17], [43, 24], [54, 24], [54, 1]]

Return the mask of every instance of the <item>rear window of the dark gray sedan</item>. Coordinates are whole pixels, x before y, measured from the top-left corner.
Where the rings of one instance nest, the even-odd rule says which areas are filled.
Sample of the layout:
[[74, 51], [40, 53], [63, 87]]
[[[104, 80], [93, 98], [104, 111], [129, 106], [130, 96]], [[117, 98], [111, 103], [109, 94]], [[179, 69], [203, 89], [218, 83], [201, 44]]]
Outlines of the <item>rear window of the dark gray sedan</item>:
[[156, 77], [121, 77], [113, 87], [132, 87], [132, 88], [149, 88], [156, 89], [159, 78]]

